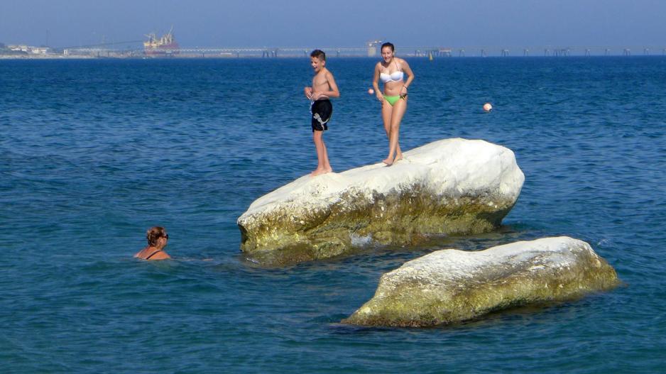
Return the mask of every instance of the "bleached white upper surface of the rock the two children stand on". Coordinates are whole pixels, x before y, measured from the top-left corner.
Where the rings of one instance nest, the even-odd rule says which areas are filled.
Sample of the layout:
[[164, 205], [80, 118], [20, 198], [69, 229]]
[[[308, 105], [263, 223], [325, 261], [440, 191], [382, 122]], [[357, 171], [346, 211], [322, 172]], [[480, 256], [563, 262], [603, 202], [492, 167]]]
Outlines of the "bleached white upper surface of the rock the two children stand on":
[[373, 192], [399, 191], [414, 183], [447, 197], [483, 191], [515, 201], [525, 182], [513, 152], [486, 141], [444, 139], [405, 152], [403, 157], [391, 167], [377, 163], [317, 177], [305, 175], [256, 199], [238, 221], [285, 204], [299, 209], [327, 207], [349, 189], [372, 199]]

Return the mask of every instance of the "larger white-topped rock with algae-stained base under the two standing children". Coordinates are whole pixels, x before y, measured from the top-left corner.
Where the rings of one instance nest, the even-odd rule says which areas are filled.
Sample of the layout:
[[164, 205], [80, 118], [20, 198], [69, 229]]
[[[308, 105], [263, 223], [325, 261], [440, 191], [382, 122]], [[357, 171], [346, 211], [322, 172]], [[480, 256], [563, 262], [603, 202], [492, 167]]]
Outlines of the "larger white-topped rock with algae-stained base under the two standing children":
[[241, 250], [283, 265], [351, 251], [354, 242], [416, 243], [427, 234], [496, 229], [525, 177], [513, 152], [446, 139], [382, 163], [305, 175], [253, 202], [239, 217]]

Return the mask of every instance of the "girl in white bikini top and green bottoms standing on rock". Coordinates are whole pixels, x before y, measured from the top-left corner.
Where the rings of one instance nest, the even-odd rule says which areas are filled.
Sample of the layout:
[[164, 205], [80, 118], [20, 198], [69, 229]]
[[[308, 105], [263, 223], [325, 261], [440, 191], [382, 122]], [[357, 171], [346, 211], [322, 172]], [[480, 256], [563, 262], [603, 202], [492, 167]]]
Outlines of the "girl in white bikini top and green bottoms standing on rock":
[[[382, 61], [375, 66], [375, 75], [372, 85], [375, 88], [377, 99], [381, 102], [381, 118], [388, 137], [388, 157], [383, 160], [387, 166], [403, 159], [403, 152], [398, 143], [400, 121], [407, 110], [407, 87], [414, 80], [414, 73], [407, 61], [395, 57], [395, 48], [391, 43], [381, 45]], [[408, 76], [405, 80], [405, 74]], [[379, 80], [384, 84], [384, 91], [379, 90]]]

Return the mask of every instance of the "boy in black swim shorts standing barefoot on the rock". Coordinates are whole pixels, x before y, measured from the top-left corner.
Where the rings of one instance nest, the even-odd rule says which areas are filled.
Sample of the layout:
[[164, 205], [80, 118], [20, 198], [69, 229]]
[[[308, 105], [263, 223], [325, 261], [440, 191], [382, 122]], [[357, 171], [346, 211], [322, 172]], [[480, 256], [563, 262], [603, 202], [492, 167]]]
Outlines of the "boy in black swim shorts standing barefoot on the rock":
[[328, 160], [326, 145], [324, 144], [324, 131], [328, 130], [328, 121], [333, 115], [333, 105], [329, 98], [340, 97], [337, 84], [333, 74], [326, 68], [326, 53], [322, 50], [313, 50], [310, 53], [310, 65], [315, 70], [312, 78], [312, 87], [305, 87], [305, 97], [312, 101], [310, 112], [312, 113], [312, 139], [317, 148], [317, 169], [310, 175], [325, 174], [332, 172], [333, 168]]

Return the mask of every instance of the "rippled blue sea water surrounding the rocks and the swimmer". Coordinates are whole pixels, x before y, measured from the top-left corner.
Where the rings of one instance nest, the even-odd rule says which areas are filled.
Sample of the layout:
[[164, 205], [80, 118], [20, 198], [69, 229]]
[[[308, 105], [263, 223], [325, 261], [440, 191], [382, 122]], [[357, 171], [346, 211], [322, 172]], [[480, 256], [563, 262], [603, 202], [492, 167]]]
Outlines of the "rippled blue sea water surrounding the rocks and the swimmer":
[[[515, 152], [525, 185], [501, 229], [261, 268], [236, 219], [316, 167], [309, 60], [0, 61], [0, 370], [666, 370], [666, 57], [408, 62], [403, 149], [461, 137]], [[375, 63], [329, 58], [334, 170], [386, 157]], [[132, 258], [153, 225], [174, 260]], [[454, 326], [339, 324], [407, 260], [561, 235], [624, 285]]]

